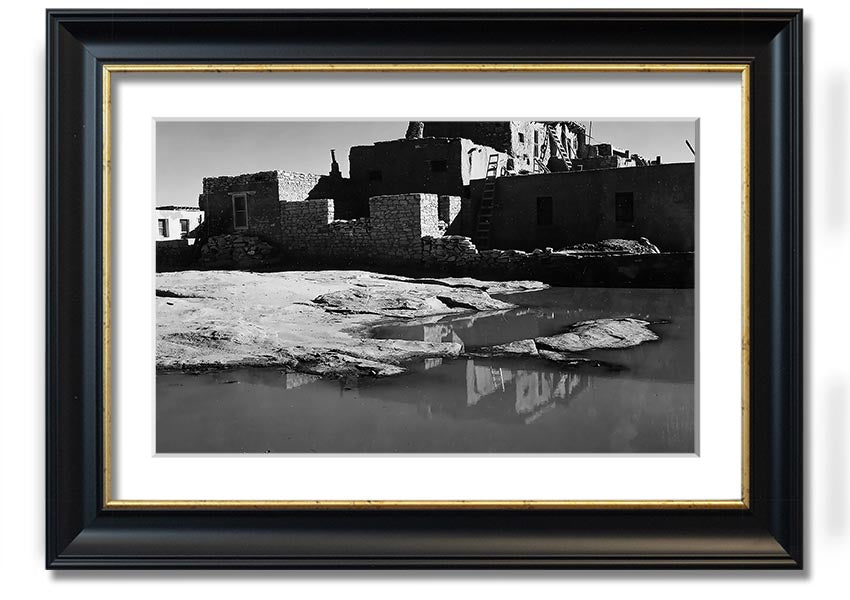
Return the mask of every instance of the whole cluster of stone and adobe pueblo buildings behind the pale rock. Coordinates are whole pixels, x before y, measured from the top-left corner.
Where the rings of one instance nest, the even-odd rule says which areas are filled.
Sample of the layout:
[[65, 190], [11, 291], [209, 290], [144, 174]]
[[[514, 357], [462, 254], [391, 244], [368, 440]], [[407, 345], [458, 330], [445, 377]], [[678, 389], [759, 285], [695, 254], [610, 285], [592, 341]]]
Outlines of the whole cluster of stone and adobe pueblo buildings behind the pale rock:
[[331, 150], [328, 174], [204, 178], [201, 241], [179, 260], [158, 252], [158, 270], [693, 285], [694, 163], [593, 144], [572, 121], [501, 121], [411, 122], [405, 138], [352, 147], [349, 165], [345, 177]]

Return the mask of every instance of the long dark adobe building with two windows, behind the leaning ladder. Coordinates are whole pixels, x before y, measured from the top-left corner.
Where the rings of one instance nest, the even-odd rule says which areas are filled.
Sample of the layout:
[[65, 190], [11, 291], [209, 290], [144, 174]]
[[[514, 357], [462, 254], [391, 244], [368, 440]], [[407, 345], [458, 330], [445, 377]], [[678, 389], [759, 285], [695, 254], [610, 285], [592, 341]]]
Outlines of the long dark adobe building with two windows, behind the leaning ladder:
[[[499, 177], [490, 247], [563, 248], [605, 239], [649, 238], [664, 252], [693, 252], [694, 163]], [[462, 209], [474, 236], [484, 189], [472, 183]]]

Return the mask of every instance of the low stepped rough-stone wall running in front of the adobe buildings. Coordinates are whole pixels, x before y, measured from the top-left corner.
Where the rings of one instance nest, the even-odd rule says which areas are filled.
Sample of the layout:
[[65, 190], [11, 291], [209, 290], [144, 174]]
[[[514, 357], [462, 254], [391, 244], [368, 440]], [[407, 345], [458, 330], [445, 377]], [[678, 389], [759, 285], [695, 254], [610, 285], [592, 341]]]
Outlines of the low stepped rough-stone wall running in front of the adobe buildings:
[[371, 217], [337, 221], [333, 200], [283, 202], [283, 253], [338, 267], [387, 266], [429, 275], [531, 278], [559, 285], [599, 285], [617, 277], [623, 285], [652, 287], [673, 280], [692, 285], [690, 254], [478, 250], [468, 237], [443, 235], [446, 224], [438, 217], [457, 219], [459, 205], [457, 197], [434, 194], [375, 196], [369, 199]]

